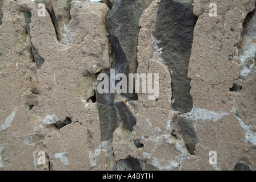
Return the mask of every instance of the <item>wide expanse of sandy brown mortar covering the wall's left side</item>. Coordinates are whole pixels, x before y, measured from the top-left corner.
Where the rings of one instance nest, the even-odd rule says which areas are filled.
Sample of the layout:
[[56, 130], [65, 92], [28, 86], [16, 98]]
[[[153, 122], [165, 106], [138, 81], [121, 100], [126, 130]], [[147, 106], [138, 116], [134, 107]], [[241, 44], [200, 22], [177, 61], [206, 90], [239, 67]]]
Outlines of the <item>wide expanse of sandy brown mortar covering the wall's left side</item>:
[[[49, 13], [38, 16], [36, 3], [3, 1], [2, 8], [1, 169], [105, 169], [109, 157], [101, 149], [97, 104], [90, 98], [95, 92], [95, 74], [110, 67], [105, 25], [109, 8], [98, 2], [71, 2], [73, 39], [66, 45], [58, 42]], [[30, 35], [23, 11], [31, 13]], [[31, 44], [45, 60], [40, 68], [33, 61]], [[10, 86], [13, 89], [7, 89]], [[46, 154], [45, 165], [38, 163], [39, 151]]]

